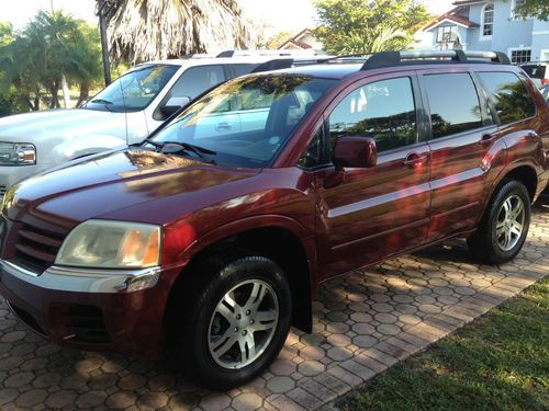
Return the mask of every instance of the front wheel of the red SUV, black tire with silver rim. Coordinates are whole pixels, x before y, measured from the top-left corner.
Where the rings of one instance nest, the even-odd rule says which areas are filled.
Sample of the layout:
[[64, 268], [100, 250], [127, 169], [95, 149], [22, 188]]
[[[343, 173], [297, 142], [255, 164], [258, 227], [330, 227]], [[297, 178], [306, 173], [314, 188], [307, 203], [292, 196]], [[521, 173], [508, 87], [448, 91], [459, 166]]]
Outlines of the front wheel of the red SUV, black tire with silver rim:
[[177, 350], [191, 375], [215, 389], [260, 375], [282, 349], [291, 323], [291, 292], [282, 269], [260, 255], [212, 259], [192, 275], [209, 277], [187, 305]]

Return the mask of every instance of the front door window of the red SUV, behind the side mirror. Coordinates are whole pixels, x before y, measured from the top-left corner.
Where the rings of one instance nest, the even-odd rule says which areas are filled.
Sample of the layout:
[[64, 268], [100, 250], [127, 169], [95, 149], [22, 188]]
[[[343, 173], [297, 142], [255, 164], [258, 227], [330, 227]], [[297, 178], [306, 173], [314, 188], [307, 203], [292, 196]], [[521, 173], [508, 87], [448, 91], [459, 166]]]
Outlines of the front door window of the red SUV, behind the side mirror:
[[378, 151], [416, 141], [416, 115], [410, 78], [362, 85], [347, 95], [329, 116], [332, 146], [341, 136], [371, 136]]

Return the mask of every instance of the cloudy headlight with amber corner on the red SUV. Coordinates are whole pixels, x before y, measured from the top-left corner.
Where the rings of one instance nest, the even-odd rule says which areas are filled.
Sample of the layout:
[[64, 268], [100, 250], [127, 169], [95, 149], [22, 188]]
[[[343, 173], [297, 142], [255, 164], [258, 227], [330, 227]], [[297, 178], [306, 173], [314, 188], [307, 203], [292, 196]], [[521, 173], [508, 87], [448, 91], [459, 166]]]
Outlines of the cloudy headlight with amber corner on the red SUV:
[[97, 269], [144, 269], [159, 264], [160, 227], [88, 220], [65, 239], [56, 265]]

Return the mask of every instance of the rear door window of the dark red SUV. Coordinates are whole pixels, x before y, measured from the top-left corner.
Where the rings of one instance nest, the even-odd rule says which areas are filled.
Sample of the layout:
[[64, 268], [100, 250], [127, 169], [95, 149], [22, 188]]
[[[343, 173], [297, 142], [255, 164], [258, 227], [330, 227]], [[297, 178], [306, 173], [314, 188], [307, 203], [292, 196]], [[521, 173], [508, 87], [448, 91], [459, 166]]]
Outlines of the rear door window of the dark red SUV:
[[482, 127], [479, 95], [468, 73], [429, 75], [423, 80], [434, 138]]

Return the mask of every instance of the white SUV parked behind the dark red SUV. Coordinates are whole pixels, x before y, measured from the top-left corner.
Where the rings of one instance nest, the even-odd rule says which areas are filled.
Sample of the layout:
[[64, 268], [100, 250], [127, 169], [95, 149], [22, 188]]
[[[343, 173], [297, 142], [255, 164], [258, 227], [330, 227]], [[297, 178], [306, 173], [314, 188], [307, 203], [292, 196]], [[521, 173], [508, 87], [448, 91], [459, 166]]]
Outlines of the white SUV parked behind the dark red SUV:
[[14, 183], [54, 165], [141, 142], [170, 115], [228, 79], [314, 58], [273, 52], [224, 55], [146, 62], [79, 109], [0, 118], [0, 197]]

